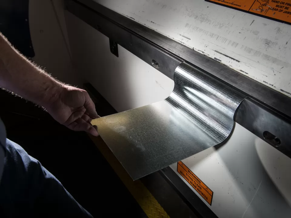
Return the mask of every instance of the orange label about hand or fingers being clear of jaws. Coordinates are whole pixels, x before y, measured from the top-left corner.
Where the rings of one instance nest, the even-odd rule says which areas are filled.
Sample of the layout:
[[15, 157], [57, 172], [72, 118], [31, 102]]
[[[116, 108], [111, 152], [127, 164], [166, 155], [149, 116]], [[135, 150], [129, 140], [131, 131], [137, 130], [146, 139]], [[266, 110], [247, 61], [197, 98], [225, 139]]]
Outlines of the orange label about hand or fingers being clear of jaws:
[[291, 24], [291, 0], [206, 0]]

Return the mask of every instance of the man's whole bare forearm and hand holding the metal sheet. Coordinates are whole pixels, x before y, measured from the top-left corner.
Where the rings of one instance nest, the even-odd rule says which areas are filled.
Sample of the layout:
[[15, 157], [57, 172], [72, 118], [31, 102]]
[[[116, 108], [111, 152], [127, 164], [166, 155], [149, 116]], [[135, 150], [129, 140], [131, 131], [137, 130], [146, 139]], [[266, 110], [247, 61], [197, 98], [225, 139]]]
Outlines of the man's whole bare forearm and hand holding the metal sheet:
[[52, 78], [14, 49], [1, 33], [0, 87], [41, 105], [71, 130], [98, 136], [90, 122], [99, 116], [89, 94]]

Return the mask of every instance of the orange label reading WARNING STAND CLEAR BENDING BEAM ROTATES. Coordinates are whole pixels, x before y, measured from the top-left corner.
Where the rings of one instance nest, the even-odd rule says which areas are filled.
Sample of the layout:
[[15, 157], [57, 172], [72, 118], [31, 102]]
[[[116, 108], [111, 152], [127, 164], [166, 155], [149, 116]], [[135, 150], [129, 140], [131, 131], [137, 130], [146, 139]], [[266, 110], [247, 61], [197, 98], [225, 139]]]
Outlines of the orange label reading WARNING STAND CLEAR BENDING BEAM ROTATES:
[[213, 192], [182, 161], [178, 162], [177, 171], [211, 205]]

